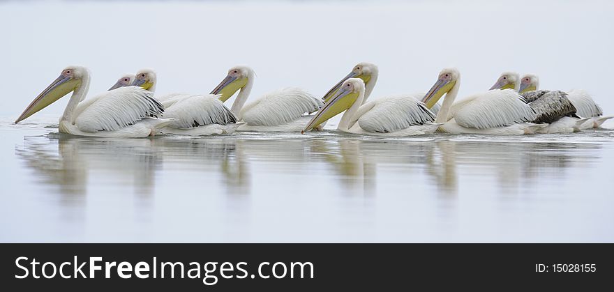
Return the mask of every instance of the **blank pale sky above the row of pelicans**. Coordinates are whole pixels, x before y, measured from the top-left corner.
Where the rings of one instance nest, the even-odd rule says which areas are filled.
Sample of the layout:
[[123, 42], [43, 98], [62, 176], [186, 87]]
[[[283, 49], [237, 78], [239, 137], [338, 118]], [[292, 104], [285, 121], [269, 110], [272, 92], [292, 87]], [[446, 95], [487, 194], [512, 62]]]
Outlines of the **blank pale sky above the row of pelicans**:
[[285, 86], [322, 95], [360, 61], [380, 67], [372, 98], [424, 92], [455, 66], [461, 97], [513, 70], [544, 89], [586, 89], [614, 113], [611, 2], [457, 2], [2, 2], [0, 116], [17, 117], [70, 64], [93, 72], [90, 94], [144, 67], [160, 94], [208, 93], [247, 64], [254, 100]]

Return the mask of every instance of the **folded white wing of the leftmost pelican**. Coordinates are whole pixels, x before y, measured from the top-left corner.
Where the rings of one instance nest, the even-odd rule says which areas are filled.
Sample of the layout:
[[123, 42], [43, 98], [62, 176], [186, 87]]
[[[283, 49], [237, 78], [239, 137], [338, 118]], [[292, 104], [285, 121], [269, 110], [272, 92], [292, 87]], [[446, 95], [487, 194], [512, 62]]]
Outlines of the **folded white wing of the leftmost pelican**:
[[164, 112], [153, 93], [137, 86], [107, 91], [82, 103], [82, 107], [75, 109], [75, 125], [91, 133], [119, 130], [142, 118], [162, 116]]

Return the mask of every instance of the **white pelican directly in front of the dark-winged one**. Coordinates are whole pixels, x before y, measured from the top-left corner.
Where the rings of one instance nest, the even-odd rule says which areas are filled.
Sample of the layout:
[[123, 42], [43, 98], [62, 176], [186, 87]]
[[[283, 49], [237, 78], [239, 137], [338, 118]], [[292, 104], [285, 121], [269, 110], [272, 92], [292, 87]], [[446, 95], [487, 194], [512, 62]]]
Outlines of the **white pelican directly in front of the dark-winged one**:
[[[442, 132], [524, 135], [532, 134], [544, 127], [527, 123], [534, 120], [537, 114], [514, 89], [496, 89], [475, 94], [453, 106], [460, 86], [461, 73], [456, 68], [444, 69], [440, 72], [437, 82], [422, 99], [427, 107], [431, 107], [444, 94], [446, 95], [435, 119], [435, 123], [444, 123], [439, 128]], [[449, 119], [451, 114], [454, 116]]]

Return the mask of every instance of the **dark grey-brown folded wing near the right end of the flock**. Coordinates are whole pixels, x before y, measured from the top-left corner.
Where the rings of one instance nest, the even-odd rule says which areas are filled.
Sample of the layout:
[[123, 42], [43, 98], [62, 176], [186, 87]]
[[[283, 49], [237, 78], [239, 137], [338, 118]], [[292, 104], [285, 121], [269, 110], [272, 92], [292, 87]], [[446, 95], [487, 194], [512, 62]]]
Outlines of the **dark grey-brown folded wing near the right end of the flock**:
[[529, 106], [537, 114], [532, 123], [553, 123], [564, 116], [576, 116], [576, 107], [562, 91], [529, 91], [523, 97], [532, 100]]

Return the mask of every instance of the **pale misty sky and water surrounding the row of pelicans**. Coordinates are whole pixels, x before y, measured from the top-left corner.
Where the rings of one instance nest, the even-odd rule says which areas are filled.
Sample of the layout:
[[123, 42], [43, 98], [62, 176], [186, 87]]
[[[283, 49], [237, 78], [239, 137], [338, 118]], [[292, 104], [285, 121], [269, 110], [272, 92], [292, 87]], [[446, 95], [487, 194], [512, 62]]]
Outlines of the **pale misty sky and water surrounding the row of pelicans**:
[[248, 64], [252, 100], [322, 95], [360, 61], [372, 98], [515, 70], [614, 114], [614, 4], [536, 2], [0, 1], [0, 242], [614, 242], [612, 130], [95, 139], [44, 128], [66, 98], [12, 123], [69, 64], [94, 94], [143, 67], [208, 93]]

